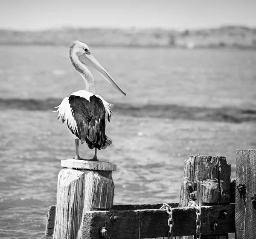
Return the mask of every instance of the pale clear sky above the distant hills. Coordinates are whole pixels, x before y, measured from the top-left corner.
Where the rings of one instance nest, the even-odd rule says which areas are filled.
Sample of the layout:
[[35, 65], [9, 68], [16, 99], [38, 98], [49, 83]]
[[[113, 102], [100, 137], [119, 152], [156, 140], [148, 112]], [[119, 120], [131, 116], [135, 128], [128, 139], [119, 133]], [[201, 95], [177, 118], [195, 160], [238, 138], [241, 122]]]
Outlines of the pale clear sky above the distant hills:
[[256, 27], [256, 0], [0, 0], [0, 29]]

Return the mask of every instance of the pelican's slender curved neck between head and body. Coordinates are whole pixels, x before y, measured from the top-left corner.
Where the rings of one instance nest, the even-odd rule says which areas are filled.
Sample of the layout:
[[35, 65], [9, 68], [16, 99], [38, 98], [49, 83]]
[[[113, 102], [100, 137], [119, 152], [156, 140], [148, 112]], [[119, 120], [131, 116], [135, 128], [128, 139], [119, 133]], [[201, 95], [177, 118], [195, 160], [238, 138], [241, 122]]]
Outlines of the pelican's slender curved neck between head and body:
[[85, 90], [95, 94], [95, 84], [92, 73], [79, 60], [78, 56], [70, 52], [70, 61], [76, 71], [82, 76], [85, 82]]

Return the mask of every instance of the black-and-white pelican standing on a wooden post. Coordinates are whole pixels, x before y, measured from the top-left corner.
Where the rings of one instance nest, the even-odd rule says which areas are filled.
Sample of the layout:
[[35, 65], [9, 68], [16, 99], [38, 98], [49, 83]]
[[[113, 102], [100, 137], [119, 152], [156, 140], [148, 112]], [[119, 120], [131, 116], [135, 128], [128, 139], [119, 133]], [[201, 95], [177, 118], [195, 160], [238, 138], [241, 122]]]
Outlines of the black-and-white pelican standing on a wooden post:
[[58, 112], [58, 120], [66, 123], [67, 129], [75, 139], [76, 155], [74, 159], [84, 159], [79, 156], [79, 141], [84, 142], [90, 149], [95, 148], [94, 157], [86, 160], [98, 160], [97, 149], [102, 150], [112, 144], [110, 138], [105, 135], [107, 121], [111, 118], [112, 104], [106, 102], [101, 96], [95, 95], [93, 75], [87, 69], [96, 69], [105, 80], [114, 86], [119, 92], [125, 92], [116, 84], [108, 72], [90, 53], [89, 47], [78, 40], [73, 41], [68, 49], [71, 64], [82, 76], [85, 89], [72, 93], [64, 98], [55, 112]]

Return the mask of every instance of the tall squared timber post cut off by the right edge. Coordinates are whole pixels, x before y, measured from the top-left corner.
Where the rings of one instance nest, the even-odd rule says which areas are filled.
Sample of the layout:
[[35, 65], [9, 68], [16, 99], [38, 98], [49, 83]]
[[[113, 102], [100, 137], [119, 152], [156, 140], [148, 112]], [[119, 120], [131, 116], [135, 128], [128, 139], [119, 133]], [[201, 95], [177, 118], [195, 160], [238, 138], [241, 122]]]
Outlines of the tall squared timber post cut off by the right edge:
[[236, 151], [236, 239], [256, 238], [256, 150]]

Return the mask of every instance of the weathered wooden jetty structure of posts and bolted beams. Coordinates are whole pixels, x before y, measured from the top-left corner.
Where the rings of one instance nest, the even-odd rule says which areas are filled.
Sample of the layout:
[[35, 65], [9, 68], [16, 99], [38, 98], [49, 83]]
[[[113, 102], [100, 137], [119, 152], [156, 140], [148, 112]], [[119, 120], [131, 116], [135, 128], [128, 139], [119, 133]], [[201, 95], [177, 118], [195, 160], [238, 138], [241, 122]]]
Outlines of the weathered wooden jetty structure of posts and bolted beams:
[[47, 213], [46, 235], [54, 227], [55, 239], [227, 239], [234, 232], [236, 239], [256, 238], [256, 150], [237, 150], [236, 179], [230, 179], [224, 156], [190, 155], [179, 207], [113, 205], [116, 165], [81, 160], [61, 165], [57, 205]]

